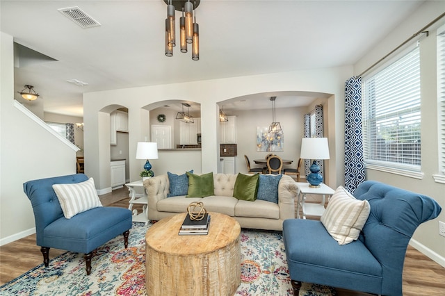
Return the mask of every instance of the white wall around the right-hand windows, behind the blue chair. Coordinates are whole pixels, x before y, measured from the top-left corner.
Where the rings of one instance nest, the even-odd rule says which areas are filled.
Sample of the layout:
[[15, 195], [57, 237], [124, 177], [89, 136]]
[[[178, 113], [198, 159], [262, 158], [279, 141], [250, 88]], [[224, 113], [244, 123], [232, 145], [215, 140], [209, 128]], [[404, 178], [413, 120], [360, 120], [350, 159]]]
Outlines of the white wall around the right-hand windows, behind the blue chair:
[[[388, 54], [398, 44], [410, 38], [416, 31], [426, 26], [444, 12], [444, 2], [428, 1], [419, 10], [394, 29], [394, 31], [379, 42], [373, 51], [369, 52], [355, 65], [354, 72], [359, 74], [376, 60]], [[445, 19], [442, 19], [444, 24]], [[438, 24], [436, 25], [438, 26]], [[421, 51], [421, 170], [423, 179], [366, 170], [366, 179], [382, 181], [393, 186], [419, 192], [435, 199], [442, 206], [442, 213], [435, 220], [421, 224], [414, 233], [411, 244], [420, 249], [439, 264], [445, 267], [445, 237], [439, 236], [439, 220], [445, 222], [445, 184], [436, 183], [433, 174], [439, 174], [439, 159], [437, 149], [437, 60], [436, 32], [430, 28], [429, 37], [424, 36], [420, 42]], [[388, 59], [390, 59], [389, 57]]]

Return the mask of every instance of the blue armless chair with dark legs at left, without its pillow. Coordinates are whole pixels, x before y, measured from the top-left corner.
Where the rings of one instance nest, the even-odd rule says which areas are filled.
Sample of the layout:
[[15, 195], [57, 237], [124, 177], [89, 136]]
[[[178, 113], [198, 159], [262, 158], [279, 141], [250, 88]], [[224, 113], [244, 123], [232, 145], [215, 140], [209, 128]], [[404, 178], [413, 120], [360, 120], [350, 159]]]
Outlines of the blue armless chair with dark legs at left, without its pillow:
[[100, 206], [66, 219], [52, 188], [53, 184], [87, 181], [85, 174], [57, 176], [29, 181], [23, 184], [24, 192], [33, 206], [36, 244], [43, 254], [43, 263], [49, 265], [49, 248], [84, 253], [86, 273], [91, 272], [92, 251], [108, 240], [123, 233], [128, 247], [131, 211], [127, 208]]

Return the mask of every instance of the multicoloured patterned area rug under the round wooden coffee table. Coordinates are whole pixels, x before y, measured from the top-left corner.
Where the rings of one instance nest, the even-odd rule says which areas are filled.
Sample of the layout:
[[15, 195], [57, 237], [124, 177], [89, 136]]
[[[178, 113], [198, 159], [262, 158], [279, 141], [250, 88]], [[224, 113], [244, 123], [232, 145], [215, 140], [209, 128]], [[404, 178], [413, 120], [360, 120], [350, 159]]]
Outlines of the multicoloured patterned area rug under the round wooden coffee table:
[[[150, 225], [133, 223], [129, 247], [118, 236], [97, 249], [92, 271], [83, 255], [66, 252], [49, 268], [38, 265], [0, 287], [0, 295], [146, 295], [145, 233]], [[235, 295], [293, 295], [282, 235], [274, 231], [241, 231], [241, 285]], [[334, 288], [303, 283], [300, 296], [336, 295]]]

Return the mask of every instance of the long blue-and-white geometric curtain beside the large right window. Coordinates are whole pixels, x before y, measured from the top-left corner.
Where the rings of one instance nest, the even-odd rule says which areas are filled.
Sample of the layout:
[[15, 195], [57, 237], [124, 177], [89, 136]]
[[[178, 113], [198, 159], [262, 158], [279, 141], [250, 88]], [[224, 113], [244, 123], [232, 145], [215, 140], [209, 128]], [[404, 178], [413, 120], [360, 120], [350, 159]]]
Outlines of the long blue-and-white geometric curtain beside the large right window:
[[354, 76], [345, 88], [345, 186], [354, 192], [363, 181], [362, 78]]

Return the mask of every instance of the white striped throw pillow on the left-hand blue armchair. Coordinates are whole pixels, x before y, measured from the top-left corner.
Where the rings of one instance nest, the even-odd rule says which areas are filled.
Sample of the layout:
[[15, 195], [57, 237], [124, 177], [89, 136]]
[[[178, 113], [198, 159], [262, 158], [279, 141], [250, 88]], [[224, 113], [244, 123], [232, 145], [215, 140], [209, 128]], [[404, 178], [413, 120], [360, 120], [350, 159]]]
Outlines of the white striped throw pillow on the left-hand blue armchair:
[[102, 206], [92, 178], [81, 183], [54, 184], [53, 189], [67, 219], [90, 208]]

